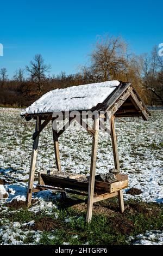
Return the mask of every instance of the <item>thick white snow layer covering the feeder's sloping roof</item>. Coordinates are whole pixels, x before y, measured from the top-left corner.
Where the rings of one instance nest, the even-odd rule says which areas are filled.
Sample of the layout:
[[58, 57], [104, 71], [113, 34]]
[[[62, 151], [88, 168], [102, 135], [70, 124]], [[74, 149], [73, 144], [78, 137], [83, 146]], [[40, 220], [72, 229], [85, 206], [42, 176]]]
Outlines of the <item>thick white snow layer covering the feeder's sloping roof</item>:
[[24, 114], [39, 114], [54, 111], [89, 110], [102, 103], [120, 85], [119, 81], [98, 82], [47, 92], [30, 105]]

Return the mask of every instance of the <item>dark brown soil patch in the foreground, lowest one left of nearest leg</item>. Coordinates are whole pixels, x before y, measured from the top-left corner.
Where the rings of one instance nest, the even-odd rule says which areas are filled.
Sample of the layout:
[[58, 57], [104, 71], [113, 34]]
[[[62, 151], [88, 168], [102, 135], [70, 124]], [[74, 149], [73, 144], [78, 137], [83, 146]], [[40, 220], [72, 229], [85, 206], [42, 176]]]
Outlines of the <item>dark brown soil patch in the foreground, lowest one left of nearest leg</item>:
[[30, 227], [30, 229], [50, 231], [52, 229], [60, 228], [60, 227], [61, 227], [61, 223], [59, 223], [58, 220], [55, 220], [49, 217], [43, 217], [39, 221], [36, 221], [34, 225]]

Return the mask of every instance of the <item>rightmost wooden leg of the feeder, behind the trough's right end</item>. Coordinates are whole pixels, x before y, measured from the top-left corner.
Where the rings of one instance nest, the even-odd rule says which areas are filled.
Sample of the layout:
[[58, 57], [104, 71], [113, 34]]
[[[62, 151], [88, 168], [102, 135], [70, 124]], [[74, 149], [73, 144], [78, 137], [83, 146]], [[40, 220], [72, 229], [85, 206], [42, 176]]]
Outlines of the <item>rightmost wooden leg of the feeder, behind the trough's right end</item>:
[[[115, 123], [114, 123], [114, 116], [111, 116], [111, 141], [112, 141], [112, 151], [114, 155], [114, 164], [115, 169], [120, 170], [120, 161], [118, 157], [118, 148], [117, 148], [117, 138], [115, 133]], [[118, 191], [118, 200], [120, 205], [121, 213], [124, 212], [124, 201], [123, 201], [123, 191], [122, 189]]]

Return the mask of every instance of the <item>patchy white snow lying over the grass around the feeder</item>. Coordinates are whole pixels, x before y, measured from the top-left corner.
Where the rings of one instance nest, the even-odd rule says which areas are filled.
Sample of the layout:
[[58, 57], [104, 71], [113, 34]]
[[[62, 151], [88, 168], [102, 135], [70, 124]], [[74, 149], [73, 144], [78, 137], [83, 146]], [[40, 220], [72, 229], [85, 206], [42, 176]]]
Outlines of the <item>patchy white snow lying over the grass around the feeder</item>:
[[[1, 200], [2, 203], [9, 202], [12, 199], [25, 200], [26, 197], [33, 144], [32, 134], [35, 124], [34, 121], [26, 122], [20, 117], [20, 113], [20, 109], [0, 108], [0, 178], [5, 181], [4, 187], [9, 194], [7, 199]], [[156, 203], [162, 203], [163, 201], [162, 118], [163, 111], [159, 110], [152, 111], [152, 116], [149, 117], [148, 121], [143, 121], [140, 117], [126, 118], [127, 123], [116, 120], [121, 172], [128, 174], [129, 188], [135, 187], [142, 190], [140, 195], [135, 196], [126, 194], [124, 191], [124, 199], [137, 198]], [[77, 174], [89, 174], [91, 136], [83, 128], [80, 129], [77, 123], [74, 123], [62, 134], [59, 142], [62, 170], [76, 172]], [[37, 156], [35, 185], [37, 183], [37, 171], [53, 170], [55, 168], [52, 128], [50, 125], [40, 135], [39, 148], [41, 150]], [[97, 173], [108, 172], [110, 168], [114, 168], [111, 140], [108, 134], [100, 130]], [[34, 198], [38, 199], [39, 203], [34, 204], [30, 211], [35, 213], [45, 211], [49, 212], [50, 215], [53, 209], [56, 208], [56, 197], [59, 197], [59, 195], [54, 196], [51, 191], [35, 193]], [[3, 214], [3, 212], [8, 211], [8, 208], [2, 204], [0, 210]], [[21, 229], [15, 227], [14, 223], [5, 222], [6, 219], [0, 230], [0, 236], [6, 234], [4, 235], [3, 244], [8, 243], [5, 237], [8, 236], [9, 238], [11, 236], [10, 230], [14, 233], [15, 228], [20, 235], [18, 242], [21, 243], [23, 241], [21, 239]], [[147, 236], [152, 237], [152, 234], [156, 234], [151, 232], [153, 231], [148, 231], [147, 234], [137, 237], [136, 241], [139, 242], [136, 243], [143, 243], [143, 241], [148, 240]], [[34, 235], [39, 237], [40, 233]], [[159, 231], [158, 235], [160, 236]], [[11, 243], [13, 244], [16, 243], [15, 236], [11, 236]], [[35, 239], [39, 241], [39, 238], [36, 237]], [[161, 238], [158, 241], [161, 242]]]

